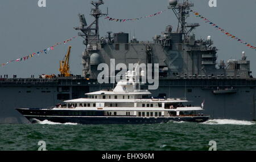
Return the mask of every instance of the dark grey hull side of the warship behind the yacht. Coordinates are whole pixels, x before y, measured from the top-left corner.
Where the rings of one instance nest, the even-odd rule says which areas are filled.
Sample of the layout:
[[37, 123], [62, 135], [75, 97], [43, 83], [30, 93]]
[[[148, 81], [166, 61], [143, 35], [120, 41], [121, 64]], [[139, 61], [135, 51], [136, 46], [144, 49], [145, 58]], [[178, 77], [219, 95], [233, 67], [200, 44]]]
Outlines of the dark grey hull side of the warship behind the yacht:
[[[217, 87], [230, 87], [236, 93], [213, 93]], [[147, 86], [141, 88], [146, 89]], [[255, 79], [159, 79], [152, 96], [186, 98], [192, 105], [204, 101], [210, 118], [255, 120]], [[86, 79], [7, 79], [0, 82], [0, 123], [29, 123], [16, 108], [49, 108], [64, 100], [85, 97], [85, 93], [112, 89], [113, 84], [98, 84]]]

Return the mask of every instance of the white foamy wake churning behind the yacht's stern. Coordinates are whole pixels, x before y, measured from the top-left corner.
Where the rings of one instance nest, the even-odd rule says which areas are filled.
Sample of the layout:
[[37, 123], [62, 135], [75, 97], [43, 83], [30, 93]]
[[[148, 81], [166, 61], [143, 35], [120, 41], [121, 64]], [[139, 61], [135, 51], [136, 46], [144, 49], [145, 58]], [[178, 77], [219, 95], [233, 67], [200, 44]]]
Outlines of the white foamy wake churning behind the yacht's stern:
[[239, 121], [239, 120], [208, 120], [203, 122], [207, 125], [254, 125], [253, 121]]

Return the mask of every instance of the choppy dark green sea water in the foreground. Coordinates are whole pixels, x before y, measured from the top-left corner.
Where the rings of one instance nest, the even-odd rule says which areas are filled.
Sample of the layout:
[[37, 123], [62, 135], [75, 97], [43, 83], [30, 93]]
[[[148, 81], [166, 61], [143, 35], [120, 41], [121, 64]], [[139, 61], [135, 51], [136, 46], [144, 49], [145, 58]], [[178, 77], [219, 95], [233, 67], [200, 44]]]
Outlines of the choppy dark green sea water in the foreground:
[[77, 125], [42, 121], [0, 125], [0, 150], [256, 150], [256, 124], [250, 121], [209, 120], [151, 125]]

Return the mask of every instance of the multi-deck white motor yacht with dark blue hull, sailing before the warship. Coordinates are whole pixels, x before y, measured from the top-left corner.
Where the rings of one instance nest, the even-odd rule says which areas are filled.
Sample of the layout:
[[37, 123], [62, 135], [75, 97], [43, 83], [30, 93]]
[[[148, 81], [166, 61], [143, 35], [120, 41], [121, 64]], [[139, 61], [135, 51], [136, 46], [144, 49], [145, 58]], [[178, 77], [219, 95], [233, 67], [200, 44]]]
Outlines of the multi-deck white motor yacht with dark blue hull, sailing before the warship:
[[154, 99], [148, 90], [137, 89], [129, 71], [113, 91], [86, 93], [86, 98], [64, 101], [50, 109], [18, 108], [29, 121], [81, 124], [142, 124], [168, 121], [204, 122], [202, 106], [185, 99]]

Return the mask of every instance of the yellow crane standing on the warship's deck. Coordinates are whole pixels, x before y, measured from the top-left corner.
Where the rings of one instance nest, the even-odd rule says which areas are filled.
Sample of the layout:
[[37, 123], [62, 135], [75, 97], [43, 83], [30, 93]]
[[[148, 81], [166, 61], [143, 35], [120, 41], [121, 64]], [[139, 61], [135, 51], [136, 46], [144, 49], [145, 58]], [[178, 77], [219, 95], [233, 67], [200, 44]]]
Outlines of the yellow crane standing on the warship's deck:
[[69, 56], [70, 56], [70, 50], [71, 50], [71, 46], [68, 47], [68, 52], [65, 55], [64, 60], [60, 61], [60, 75], [61, 76], [71, 76], [71, 74], [69, 73]]

